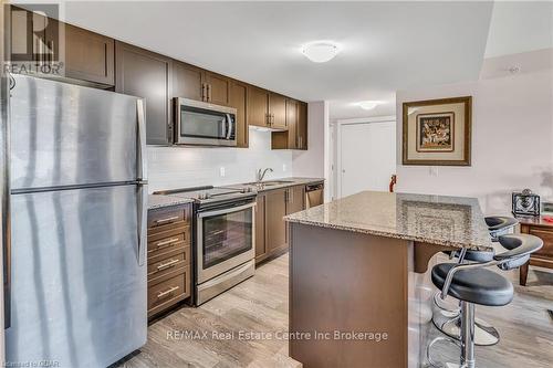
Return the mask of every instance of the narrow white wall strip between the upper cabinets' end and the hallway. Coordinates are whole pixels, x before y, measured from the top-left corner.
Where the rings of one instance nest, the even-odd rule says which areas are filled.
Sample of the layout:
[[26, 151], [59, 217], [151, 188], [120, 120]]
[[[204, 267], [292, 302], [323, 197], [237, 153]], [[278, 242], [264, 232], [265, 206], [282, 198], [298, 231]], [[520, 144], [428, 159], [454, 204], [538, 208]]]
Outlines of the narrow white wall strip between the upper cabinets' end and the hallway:
[[[330, 181], [330, 122], [328, 103], [312, 102], [307, 105], [307, 150], [293, 151], [293, 174], [296, 177], [325, 178]], [[325, 199], [331, 192], [325, 190]]]

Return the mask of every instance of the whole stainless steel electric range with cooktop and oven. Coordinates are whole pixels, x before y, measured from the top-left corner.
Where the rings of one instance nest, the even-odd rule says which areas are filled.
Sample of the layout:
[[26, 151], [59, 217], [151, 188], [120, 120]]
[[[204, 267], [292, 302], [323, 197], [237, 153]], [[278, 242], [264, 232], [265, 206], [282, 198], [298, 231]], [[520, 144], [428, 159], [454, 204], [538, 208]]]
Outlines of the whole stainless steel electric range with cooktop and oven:
[[194, 200], [195, 305], [253, 275], [254, 190], [196, 187], [155, 193]]

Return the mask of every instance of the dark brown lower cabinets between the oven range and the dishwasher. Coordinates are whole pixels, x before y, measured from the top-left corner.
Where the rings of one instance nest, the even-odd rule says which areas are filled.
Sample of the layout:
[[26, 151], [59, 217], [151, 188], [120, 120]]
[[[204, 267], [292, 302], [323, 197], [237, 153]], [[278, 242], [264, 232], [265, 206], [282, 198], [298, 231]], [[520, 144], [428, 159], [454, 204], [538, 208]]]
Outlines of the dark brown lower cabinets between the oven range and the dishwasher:
[[286, 214], [305, 209], [305, 187], [274, 189], [258, 194], [255, 213], [255, 263], [288, 250]]

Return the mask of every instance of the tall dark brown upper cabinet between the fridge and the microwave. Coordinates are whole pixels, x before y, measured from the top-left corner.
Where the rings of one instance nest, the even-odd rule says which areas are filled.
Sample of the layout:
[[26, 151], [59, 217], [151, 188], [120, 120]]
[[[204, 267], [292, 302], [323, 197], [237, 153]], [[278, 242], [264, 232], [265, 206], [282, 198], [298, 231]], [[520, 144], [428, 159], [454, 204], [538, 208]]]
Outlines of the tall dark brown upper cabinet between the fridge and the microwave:
[[123, 42], [115, 42], [115, 91], [145, 99], [148, 145], [173, 141], [170, 119], [171, 60]]

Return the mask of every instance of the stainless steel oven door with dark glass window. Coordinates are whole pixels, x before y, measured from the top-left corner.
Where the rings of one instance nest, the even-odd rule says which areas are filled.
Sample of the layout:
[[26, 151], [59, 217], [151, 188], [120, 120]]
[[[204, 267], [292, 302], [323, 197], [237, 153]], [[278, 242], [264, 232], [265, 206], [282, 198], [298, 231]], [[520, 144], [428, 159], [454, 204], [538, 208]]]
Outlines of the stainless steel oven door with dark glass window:
[[254, 257], [255, 202], [197, 214], [198, 284]]

